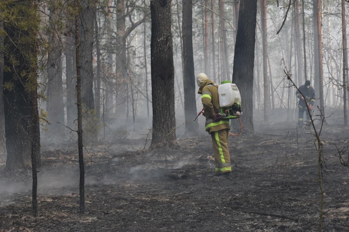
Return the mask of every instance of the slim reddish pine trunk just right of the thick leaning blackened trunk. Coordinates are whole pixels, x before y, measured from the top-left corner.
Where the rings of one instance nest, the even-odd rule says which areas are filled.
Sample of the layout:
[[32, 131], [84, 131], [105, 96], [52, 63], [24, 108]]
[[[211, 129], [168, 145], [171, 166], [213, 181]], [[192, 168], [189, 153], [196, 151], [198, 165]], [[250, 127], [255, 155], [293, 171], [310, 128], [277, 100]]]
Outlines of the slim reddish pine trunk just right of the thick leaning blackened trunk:
[[264, 121], [269, 121], [269, 88], [268, 88], [268, 42], [267, 42], [267, 1], [261, 0], [262, 43], [263, 43], [263, 89]]

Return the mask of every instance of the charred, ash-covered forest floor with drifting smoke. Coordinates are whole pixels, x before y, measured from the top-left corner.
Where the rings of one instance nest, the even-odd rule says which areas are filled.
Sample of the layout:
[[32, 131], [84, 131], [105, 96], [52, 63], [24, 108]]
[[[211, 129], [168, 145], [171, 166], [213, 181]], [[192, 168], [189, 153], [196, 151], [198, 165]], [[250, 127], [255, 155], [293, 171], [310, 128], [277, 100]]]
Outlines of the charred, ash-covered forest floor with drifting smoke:
[[[76, 148], [43, 149], [39, 216], [31, 216], [31, 177], [2, 177], [0, 231], [317, 231], [314, 136], [309, 130], [297, 136], [293, 125], [274, 126], [229, 137], [233, 171], [227, 181], [207, 177], [214, 169], [208, 134], [180, 138], [175, 150], [142, 151], [145, 138], [88, 147], [84, 215]], [[321, 137], [340, 150], [348, 146], [348, 128], [327, 125]], [[349, 169], [336, 153], [324, 144], [324, 231], [349, 227]], [[5, 159], [0, 155], [0, 171]]]

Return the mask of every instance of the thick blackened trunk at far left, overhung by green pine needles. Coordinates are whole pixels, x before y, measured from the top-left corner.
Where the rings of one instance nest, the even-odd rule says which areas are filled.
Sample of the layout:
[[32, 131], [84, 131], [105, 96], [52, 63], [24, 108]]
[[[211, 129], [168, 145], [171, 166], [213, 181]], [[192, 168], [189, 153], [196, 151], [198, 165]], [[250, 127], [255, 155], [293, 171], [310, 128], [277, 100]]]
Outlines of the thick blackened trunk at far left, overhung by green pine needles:
[[[5, 135], [7, 159], [5, 170], [19, 171], [25, 166], [30, 166], [32, 109], [34, 107], [32, 97], [32, 83], [36, 78], [35, 41], [38, 19], [36, 5], [33, 1], [23, 0], [8, 4], [8, 9], [16, 12], [17, 17], [4, 20], [4, 69], [3, 73], [3, 97], [5, 112]], [[35, 9], [34, 9], [35, 8]], [[28, 41], [23, 43], [23, 41]], [[38, 129], [36, 127], [36, 129]], [[37, 130], [39, 139], [39, 131]], [[39, 141], [37, 139], [37, 141]], [[36, 146], [36, 154], [39, 159], [40, 147]]]

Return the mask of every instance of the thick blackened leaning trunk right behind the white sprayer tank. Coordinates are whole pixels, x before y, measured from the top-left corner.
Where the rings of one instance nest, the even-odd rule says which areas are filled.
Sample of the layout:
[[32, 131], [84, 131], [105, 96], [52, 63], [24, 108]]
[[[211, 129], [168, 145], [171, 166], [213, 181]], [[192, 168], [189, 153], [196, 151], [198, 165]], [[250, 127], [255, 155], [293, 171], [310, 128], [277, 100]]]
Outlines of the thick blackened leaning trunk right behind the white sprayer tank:
[[242, 94], [244, 116], [243, 133], [253, 133], [253, 67], [255, 29], [257, 20], [257, 0], [240, 2], [238, 29], [236, 35], [232, 82]]

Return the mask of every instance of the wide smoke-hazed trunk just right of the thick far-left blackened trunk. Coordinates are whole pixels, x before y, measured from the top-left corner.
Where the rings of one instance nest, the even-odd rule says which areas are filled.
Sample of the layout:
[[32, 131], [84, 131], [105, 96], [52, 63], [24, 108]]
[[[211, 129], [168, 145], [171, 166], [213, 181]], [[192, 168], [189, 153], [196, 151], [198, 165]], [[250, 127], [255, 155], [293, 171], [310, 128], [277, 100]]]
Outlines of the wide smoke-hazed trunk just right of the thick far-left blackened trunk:
[[62, 58], [61, 58], [61, 39], [58, 33], [59, 19], [56, 3], [49, 4], [49, 53], [47, 60], [47, 118], [51, 123], [50, 135], [61, 135], [64, 124], [64, 103], [63, 103], [63, 81], [62, 81]]

